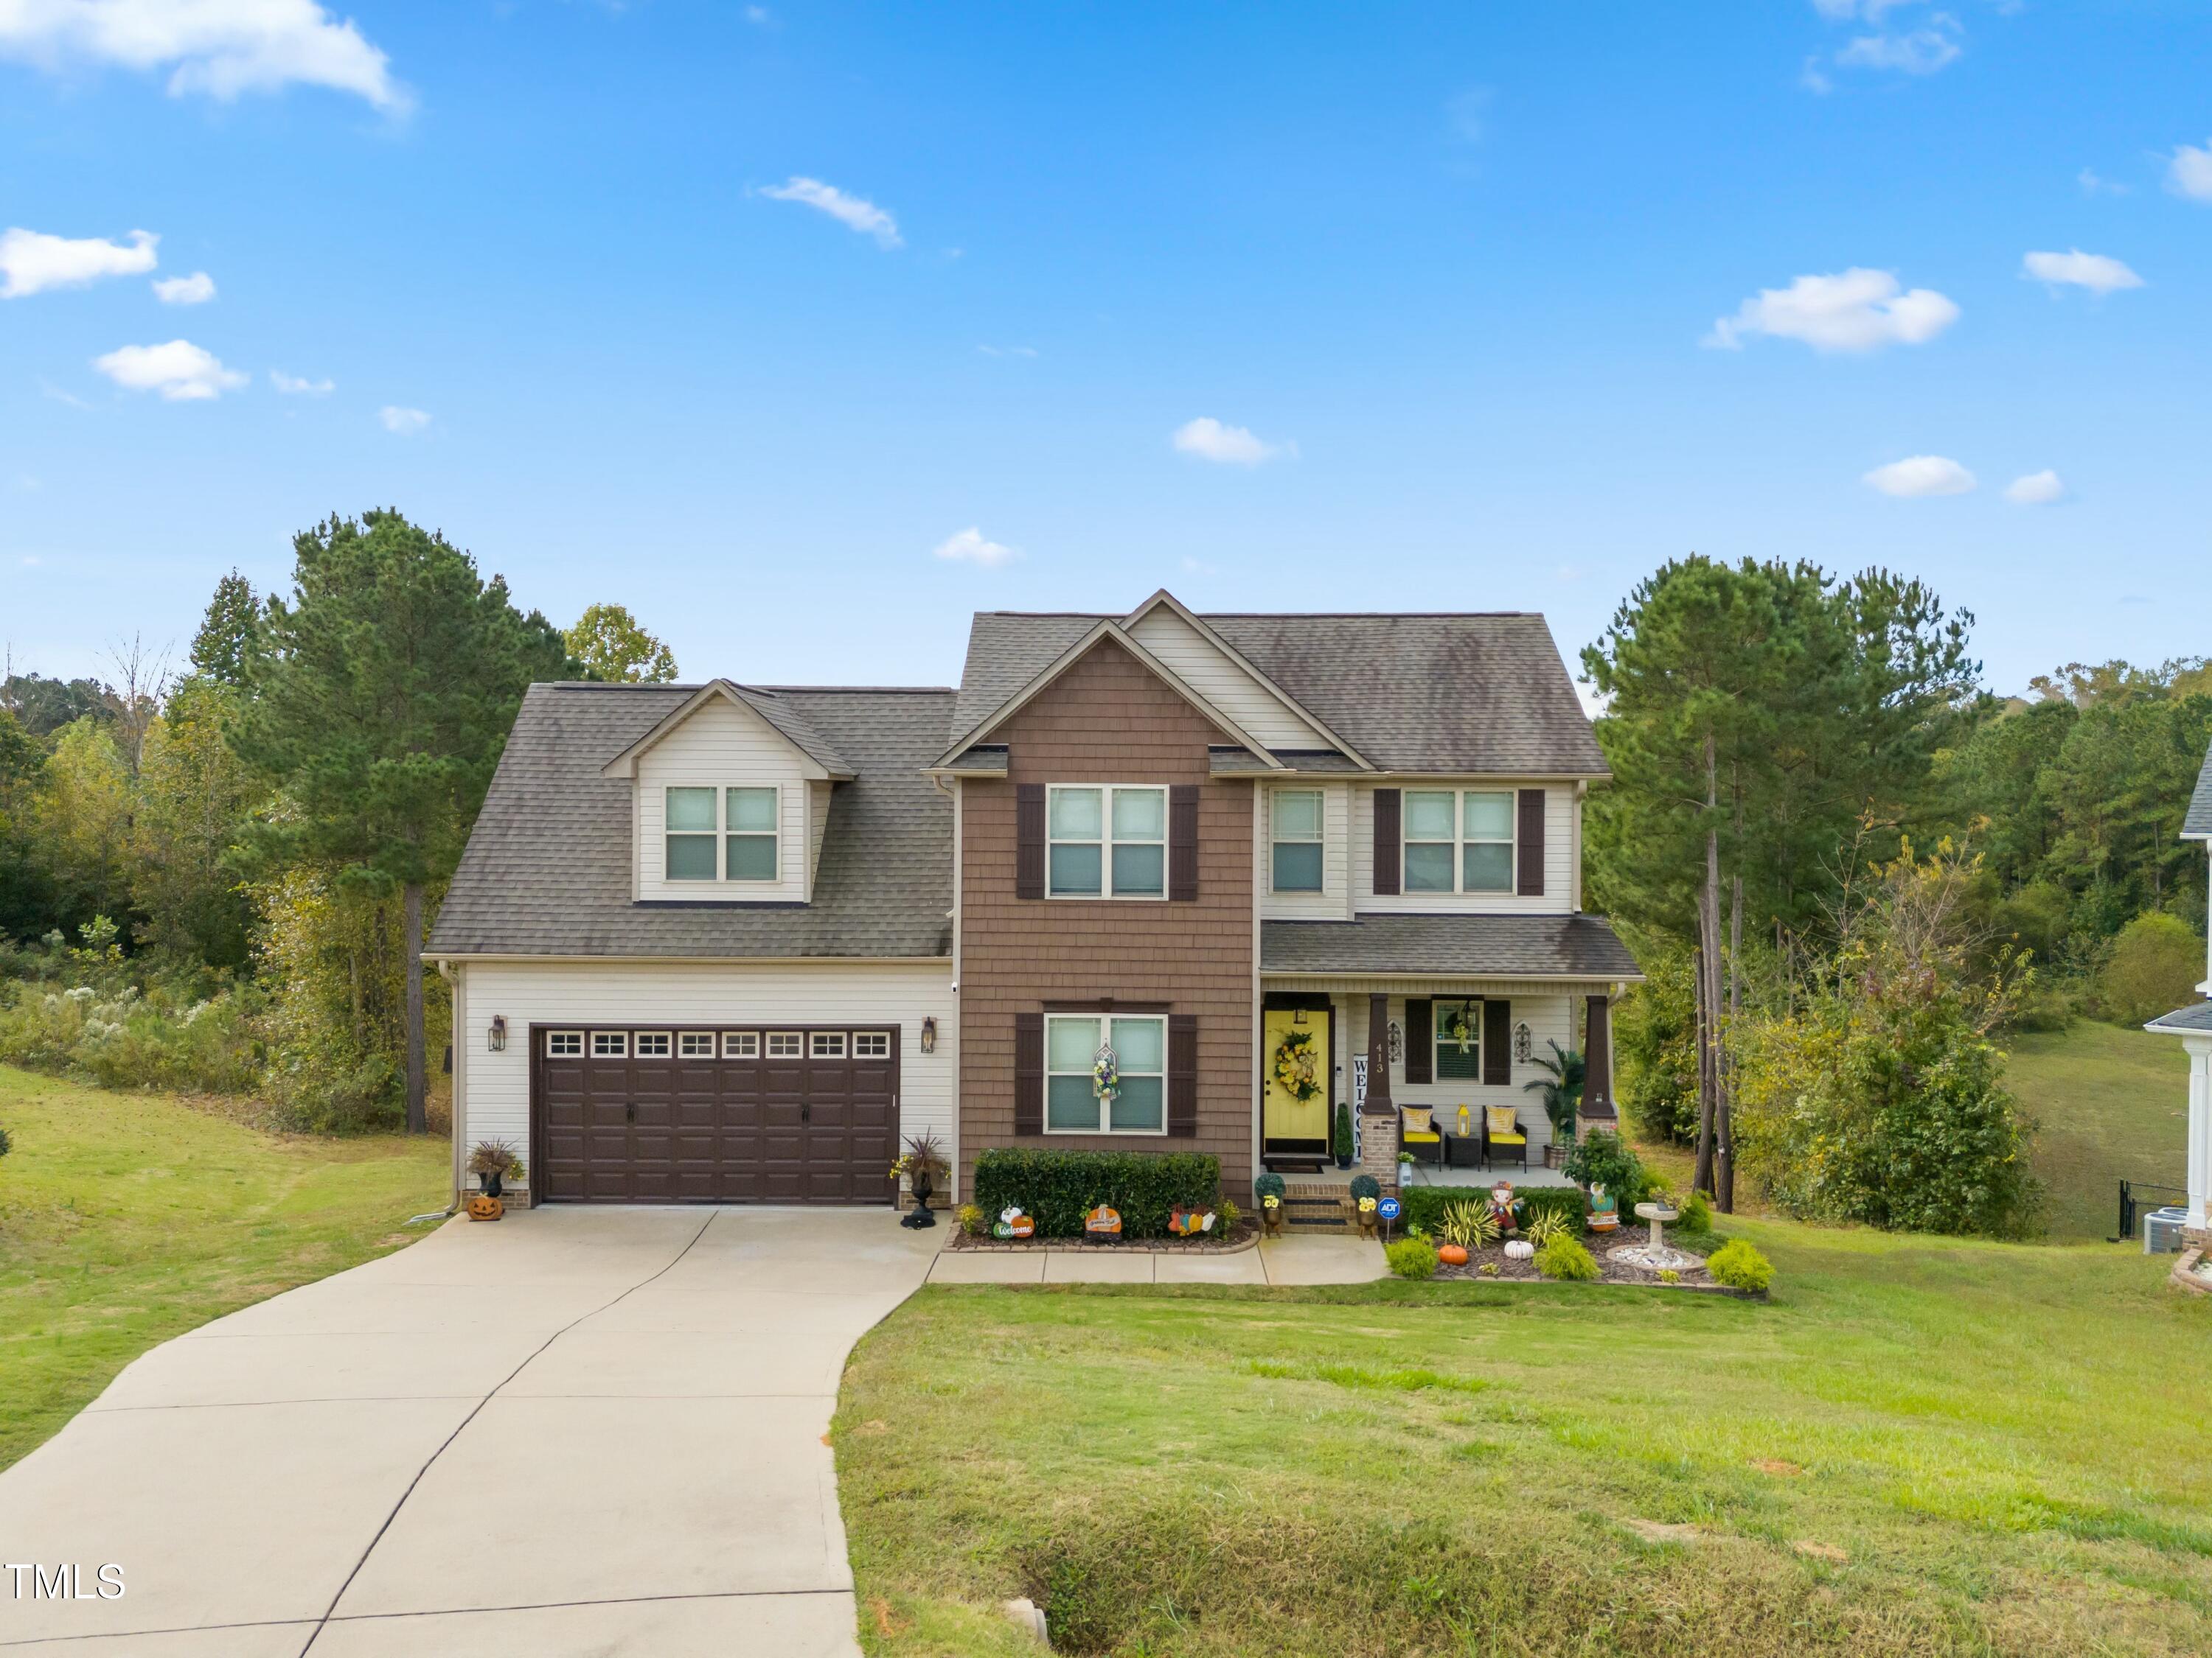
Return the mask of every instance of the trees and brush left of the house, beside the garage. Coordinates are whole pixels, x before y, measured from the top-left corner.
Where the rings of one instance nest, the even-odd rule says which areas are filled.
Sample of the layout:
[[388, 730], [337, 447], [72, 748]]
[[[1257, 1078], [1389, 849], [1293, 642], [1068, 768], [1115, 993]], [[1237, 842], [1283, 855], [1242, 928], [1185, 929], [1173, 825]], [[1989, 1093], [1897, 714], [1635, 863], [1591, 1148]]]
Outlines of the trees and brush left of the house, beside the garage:
[[622, 606], [522, 610], [398, 511], [292, 550], [285, 595], [217, 584], [175, 676], [133, 646], [117, 683], [0, 681], [0, 1057], [420, 1132], [420, 946], [522, 692], [675, 659]]

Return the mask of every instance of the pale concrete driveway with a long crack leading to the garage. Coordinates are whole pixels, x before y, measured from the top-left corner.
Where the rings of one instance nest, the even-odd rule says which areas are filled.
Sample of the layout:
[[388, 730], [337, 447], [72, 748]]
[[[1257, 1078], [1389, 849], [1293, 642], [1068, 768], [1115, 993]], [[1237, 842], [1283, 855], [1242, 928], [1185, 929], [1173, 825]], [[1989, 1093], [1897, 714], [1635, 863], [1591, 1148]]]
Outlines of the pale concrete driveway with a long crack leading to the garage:
[[553, 1207], [217, 1320], [0, 1475], [82, 1596], [0, 1570], [0, 1654], [858, 1654], [823, 1435], [942, 1236]]

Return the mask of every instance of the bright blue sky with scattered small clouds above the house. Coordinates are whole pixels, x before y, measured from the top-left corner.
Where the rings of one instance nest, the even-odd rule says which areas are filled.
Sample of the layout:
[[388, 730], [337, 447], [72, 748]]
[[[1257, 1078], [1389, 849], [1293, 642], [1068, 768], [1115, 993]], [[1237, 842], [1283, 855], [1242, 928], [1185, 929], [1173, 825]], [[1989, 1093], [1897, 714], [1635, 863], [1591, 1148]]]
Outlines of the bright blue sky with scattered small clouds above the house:
[[2205, 62], [2150, 2], [0, 7], [0, 637], [181, 652], [396, 504], [763, 683], [1157, 586], [1573, 657], [1688, 550], [1920, 575], [2006, 690], [2203, 652]]

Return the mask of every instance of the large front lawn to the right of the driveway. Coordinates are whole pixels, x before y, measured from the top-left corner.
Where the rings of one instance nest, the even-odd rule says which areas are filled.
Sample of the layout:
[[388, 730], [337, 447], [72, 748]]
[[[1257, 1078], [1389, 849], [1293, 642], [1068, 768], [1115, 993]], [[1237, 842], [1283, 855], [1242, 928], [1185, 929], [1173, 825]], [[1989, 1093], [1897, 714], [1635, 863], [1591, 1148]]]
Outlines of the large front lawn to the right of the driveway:
[[2166, 1260], [1732, 1231], [1770, 1304], [927, 1289], [836, 1415], [863, 1638], [1024, 1651], [1031, 1594], [1121, 1658], [2212, 1651]]

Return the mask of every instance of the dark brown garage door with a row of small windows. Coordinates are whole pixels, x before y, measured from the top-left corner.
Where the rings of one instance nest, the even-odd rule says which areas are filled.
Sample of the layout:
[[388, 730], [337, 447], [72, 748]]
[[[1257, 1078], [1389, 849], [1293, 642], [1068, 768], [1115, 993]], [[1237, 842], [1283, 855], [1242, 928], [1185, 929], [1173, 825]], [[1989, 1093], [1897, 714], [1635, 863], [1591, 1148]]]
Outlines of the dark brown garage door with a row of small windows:
[[896, 1026], [533, 1026], [531, 1068], [542, 1198], [891, 1200]]

